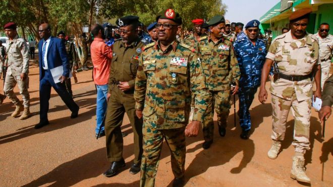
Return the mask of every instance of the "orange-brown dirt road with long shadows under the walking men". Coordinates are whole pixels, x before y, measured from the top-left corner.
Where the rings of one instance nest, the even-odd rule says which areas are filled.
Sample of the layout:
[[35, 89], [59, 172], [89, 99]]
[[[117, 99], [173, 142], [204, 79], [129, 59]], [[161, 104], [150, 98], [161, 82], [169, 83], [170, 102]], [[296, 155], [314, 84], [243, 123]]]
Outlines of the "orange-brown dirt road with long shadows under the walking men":
[[[80, 106], [79, 117], [71, 119], [70, 110], [52, 90], [48, 113], [50, 124], [35, 130], [33, 127], [39, 121], [38, 74], [38, 66], [31, 64], [29, 92], [32, 117], [26, 120], [11, 117], [14, 106], [8, 98], [0, 105], [0, 185], [139, 186], [139, 173], [129, 173], [134, 155], [133, 133], [127, 117], [122, 127], [129, 133], [124, 138], [126, 168], [115, 177], [102, 175], [109, 163], [106, 161], [105, 138], [95, 139], [96, 92], [91, 70], [78, 73], [79, 83], [73, 84], [74, 100]], [[3, 85], [3, 80], [0, 84]], [[18, 89], [15, 91], [17, 93]], [[22, 99], [21, 96], [19, 98]], [[202, 149], [202, 133], [196, 138], [187, 138], [186, 186], [302, 185], [289, 176], [294, 155], [291, 145], [294, 120], [291, 114], [283, 151], [277, 159], [270, 160], [266, 156], [271, 146], [270, 103], [260, 104], [256, 96], [250, 112], [253, 127], [249, 140], [239, 138], [241, 130], [239, 126], [234, 128], [233, 109], [228, 118], [226, 137], [218, 136], [215, 125], [214, 143], [210, 149]], [[313, 149], [305, 155], [306, 172], [312, 186], [333, 186], [333, 117], [326, 121], [323, 139], [322, 125], [317, 116], [312, 109], [310, 142]], [[328, 156], [324, 162], [323, 181], [319, 159], [322, 155]], [[172, 180], [170, 154], [164, 143], [156, 186], [171, 185]]]

